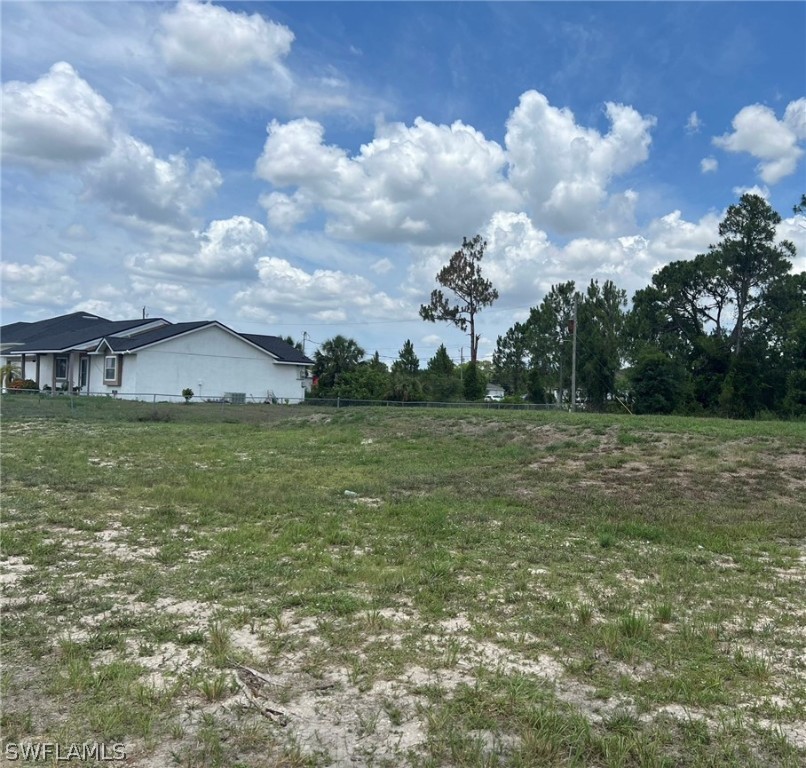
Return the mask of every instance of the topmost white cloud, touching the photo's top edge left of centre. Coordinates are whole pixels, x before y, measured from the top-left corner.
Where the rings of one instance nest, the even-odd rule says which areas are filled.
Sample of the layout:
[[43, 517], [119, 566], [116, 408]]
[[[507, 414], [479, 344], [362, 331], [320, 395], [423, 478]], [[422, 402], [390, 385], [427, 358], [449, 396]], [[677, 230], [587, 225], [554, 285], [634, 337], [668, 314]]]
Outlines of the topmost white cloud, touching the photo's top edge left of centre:
[[288, 55], [294, 33], [260, 14], [234, 13], [182, 0], [160, 18], [157, 38], [168, 67], [181, 74], [229, 76], [254, 65], [271, 67]]

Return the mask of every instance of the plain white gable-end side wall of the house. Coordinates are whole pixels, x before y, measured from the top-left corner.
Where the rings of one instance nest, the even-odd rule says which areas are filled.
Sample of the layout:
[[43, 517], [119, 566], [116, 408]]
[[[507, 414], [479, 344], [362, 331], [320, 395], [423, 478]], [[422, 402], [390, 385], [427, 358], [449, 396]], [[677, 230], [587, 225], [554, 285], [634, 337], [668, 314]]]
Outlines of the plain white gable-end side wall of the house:
[[121, 383], [103, 385], [103, 355], [90, 378], [93, 394], [116, 389], [121, 397], [163, 395], [181, 398], [189, 387], [197, 398], [217, 399], [228, 392], [247, 398], [297, 401], [304, 397], [299, 372], [304, 366], [280, 365], [221, 328], [211, 327], [123, 355]]

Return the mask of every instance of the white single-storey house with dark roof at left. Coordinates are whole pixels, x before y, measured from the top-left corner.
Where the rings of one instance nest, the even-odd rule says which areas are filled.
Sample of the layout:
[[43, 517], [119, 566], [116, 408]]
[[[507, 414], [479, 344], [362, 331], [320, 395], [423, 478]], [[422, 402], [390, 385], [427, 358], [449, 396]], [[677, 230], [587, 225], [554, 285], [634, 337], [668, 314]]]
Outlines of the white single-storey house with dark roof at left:
[[313, 361], [275, 336], [241, 334], [215, 320], [112, 321], [74, 312], [0, 328], [0, 365], [12, 362], [40, 389], [144, 399], [297, 401]]

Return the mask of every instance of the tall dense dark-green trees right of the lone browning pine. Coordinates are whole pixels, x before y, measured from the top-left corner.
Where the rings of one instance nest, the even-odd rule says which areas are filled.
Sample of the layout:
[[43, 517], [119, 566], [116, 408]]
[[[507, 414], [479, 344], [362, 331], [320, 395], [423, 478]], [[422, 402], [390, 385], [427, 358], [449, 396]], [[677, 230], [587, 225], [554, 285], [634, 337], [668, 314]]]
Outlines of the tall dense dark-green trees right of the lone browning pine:
[[[804, 212], [804, 201], [795, 207]], [[571, 402], [576, 305], [577, 399], [638, 413], [806, 414], [806, 273], [776, 241], [781, 217], [758, 195], [731, 205], [720, 240], [659, 270], [627, 295], [612, 281], [552, 286], [498, 338], [508, 392]]]

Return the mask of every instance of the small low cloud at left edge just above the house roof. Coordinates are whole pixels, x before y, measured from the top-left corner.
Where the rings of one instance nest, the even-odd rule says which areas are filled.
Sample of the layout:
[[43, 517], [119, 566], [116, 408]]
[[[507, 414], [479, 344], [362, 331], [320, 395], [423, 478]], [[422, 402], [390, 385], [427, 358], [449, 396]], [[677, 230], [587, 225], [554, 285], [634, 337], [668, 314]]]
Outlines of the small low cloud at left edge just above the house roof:
[[75, 263], [71, 253], [34, 256], [32, 264], [0, 262], [3, 305], [14, 307], [62, 307], [81, 297], [78, 281], [70, 274]]

